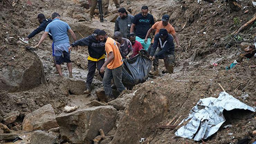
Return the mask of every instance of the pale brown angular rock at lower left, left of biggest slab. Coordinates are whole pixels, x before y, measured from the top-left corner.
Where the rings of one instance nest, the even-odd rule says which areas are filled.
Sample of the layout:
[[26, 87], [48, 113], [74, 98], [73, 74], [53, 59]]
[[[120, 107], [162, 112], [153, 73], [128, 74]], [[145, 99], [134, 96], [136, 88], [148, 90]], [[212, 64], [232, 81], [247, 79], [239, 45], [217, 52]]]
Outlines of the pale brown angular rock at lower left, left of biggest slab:
[[29, 114], [22, 123], [22, 130], [31, 132], [34, 130], [49, 130], [58, 127], [55, 112], [51, 104], [47, 104]]

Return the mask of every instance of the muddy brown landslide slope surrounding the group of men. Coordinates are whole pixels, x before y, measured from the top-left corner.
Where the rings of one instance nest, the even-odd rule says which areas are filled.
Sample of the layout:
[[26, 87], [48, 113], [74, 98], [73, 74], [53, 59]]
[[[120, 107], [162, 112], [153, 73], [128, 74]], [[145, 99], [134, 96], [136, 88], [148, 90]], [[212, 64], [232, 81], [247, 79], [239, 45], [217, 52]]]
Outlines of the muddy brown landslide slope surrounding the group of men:
[[[200, 4], [194, 0], [122, 3], [121, 6], [133, 15], [139, 13], [144, 4], [155, 20], [169, 14], [182, 48], [176, 48], [176, 66], [172, 75], [165, 74], [164, 64], [160, 61], [162, 73], [159, 78], [148, 79], [109, 103], [99, 102], [95, 94], [95, 89], [103, 86], [98, 72], [94, 76], [91, 95], [82, 94], [86, 89], [87, 47], [74, 49], [71, 53], [74, 78], [66, 78], [68, 71], [64, 65], [64, 78], [60, 78], [54, 74], [51, 40], [47, 38], [38, 51], [31, 52], [25, 46], [37, 44], [41, 33], [30, 39], [29, 44], [21, 43], [19, 38], [26, 37], [38, 26], [38, 13], [50, 18], [54, 11], [70, 24], [78, 39], [88, 36], [96, 28], [106, 30], [111, 36], [114, 23], [109, 21], [114, 21], [117, 16], [114, 4], [111, 3], [110, 14], [105, 17], [109, 21], [100, 23], [97, 17], [89, 22], [89, 10], [74, 0], [30, 2], [11, 1], [13, 8], [4, 5], [0, 12], [0, 122], [7, 126], [0, 126], [0, 141], [8, 142], [19, 135], [23, 140], [18, 142], [24, 143], [40, 143], [45, 139], [47, 143], [91, 143], [102, 129], [105, 136], [99, 144], [139, 144], [141, 138], [145, 138], [145, 144], [197, 143], [176, 137], [174, 133], [179, 126], [170, 130], [156, 125], [166, 125], [173, 119], [176, 123], [181, 122], [199, 99], [218, 97], [222, 91], [219, 84], [238, 100], [256, 106], [255, 68], [249, 67], [256, 64], [255, 59], [244, 59], [234, 68], [225, 70], [242, 52], [241, 42], [253, 45], [255, 24], [240, 32], [231, 41], [230, 48], [225, 49], [232, 37], [230, 33], [253, 17], [256, 8], [251, 1], [239, 1], [243, 9], [238, 12], [230, 10], [222, 0], [201, 1]], [[246, 10], [249, 11], [244, 13]], [[47, 104], [52, 105], [51, 114], [56, 114], [60, 127], [24, 133], [24, 118]], [[66, 105], [76, 105], [78, 109], [63, 113]], [[227, 121], [223, 126], [231, 124], [232, 127], [223, 129], [222, 126], [204, 143], [237, 143], [246, 137], [249, 143], [255, 141], [252, 134], [256, 125], [255, 113], [236, 111], [226, 114], [225, 118]], [[10, 121], [5, 123], [6, 120]], [[37, 117], [33, 121], [39, 120]]]

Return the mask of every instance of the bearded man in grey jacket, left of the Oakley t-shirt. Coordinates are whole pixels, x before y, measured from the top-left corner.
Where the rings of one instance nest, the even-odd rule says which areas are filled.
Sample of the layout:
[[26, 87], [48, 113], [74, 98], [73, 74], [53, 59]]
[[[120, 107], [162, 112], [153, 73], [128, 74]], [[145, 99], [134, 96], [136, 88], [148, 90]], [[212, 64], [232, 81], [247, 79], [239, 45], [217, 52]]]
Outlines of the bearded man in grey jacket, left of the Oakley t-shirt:
[[127, 34], [130, 34], [131, 23], [134, 16], [128, 14], [125, 8], [120, 8], [118, 12], [119, 17], [115, 23], [115, 32], [121, 32], [122, 36], [126, 38]]

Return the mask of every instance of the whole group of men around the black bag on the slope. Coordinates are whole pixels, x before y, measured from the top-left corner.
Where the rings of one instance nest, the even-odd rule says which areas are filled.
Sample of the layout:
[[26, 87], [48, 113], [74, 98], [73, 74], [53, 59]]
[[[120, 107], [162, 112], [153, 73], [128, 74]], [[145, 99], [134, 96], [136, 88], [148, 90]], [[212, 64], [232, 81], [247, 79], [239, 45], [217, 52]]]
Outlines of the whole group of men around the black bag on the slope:
[[[49, 35], [50, 39], [53, 40], [51, 44], [52, 52], [59, 75], [63, 75], [61, 64], [66, 62], [71, 78], [71, 50], [77, 46], [88, 46], [88, 75], [85, 93], [90, 93], [92, 90], [91, 84], [97, 68], [101, 78], [103, 78], [104, 92], [111, 100], [114, 99], [111, 88], [112, 79], [119, 93], [125, 90], [125, 86], [122, 84], [123, 59], [133, 58], [141, 49], [145, 49], [148, 51], [149, 58], [154, 65], [154, 71], [150, 74], [159, 74], [158, 59], [161, 58], [164, 59], [167, 72], [173, 73], [175, 63], [173, 39], [180, 47], [174, 28], [168, 23], [168, 15], [164, 15], [162, 21], [155, 23], [153, 16], [148, 13], [147, 6], [143, 6], [141, 13], [135, 16], [128, 14], [125, 8], [120, 8], [118, 13], [119, 17], [116, 19], [113, 38], [108, 37], [104, 30], [96, 29], [88, 37], [76, 40], [75, 33], [70, 26], [60, 20], [60, 14], [54, 12], [52, 19], [46, 19], [44, 14], [38, 14], [40, 26], [29, 34], [25, 40], [29, 40], [41, 31], [45, 31], [34, 47], [39, 47]], [[152, 41], [149, 35], [153, 30], [155, 30], [155, 36]], [[71, 34], [74, 40], [71, 44], [67, 32]], [[105, 60], [105, 58], [107, 59]]]

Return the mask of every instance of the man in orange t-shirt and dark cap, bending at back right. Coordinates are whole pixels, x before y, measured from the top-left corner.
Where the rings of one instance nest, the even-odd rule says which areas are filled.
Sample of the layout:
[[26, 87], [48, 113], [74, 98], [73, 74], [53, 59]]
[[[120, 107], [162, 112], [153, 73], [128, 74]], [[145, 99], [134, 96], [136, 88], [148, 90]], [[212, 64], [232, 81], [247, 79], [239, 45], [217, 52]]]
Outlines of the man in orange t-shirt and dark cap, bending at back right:
[[[156, 30], [156, 32], [155, 32], [155, 35], [156, 35], [160, 29], [166, 29], [168, 33], [172, 34], [173, 38], [176, 41], [177, 46], [180, 48], [181, 46], [179, 43], [179, 39], [176, 35], [176, 32], [175, 32], [173, 26], [168, 22], [169, 19], [170, 19], [169, 16], [167, 14], [165, 14], [162, 17], [162, 21], [158, 21], [154, 25], [152, 25], [152, 27], [147, 32], [147, 35], [145, 37], [145, 42], [147, 41], [148, 36], [150, 35], [150, 33], [153, 30]], [[154, 41], [153, 41], [153, 43], [154, 43]]]

